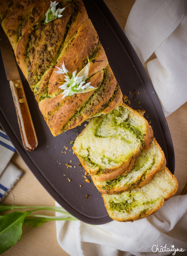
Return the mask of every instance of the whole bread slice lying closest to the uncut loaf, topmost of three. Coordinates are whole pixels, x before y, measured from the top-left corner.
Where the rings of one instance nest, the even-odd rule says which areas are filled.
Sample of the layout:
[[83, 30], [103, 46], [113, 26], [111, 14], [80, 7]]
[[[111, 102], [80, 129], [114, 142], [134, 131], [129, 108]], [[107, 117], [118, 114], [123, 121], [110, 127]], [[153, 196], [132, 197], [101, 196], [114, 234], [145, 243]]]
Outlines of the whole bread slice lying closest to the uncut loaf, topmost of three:
[[152, 141], [153, 131], [147, 120], [122, 104], [92, 118], [75, 140], [73, 151], [89, 174], [109, 180], [124, 172], [142, 148], [150, 148]]

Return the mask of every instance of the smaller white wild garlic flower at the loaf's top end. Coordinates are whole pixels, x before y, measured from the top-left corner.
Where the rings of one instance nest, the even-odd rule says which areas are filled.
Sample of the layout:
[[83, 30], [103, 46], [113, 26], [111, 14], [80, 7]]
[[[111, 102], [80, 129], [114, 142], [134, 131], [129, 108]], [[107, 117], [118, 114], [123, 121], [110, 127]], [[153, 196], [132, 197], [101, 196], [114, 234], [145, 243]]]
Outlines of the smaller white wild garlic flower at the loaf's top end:
[[56, 6], [58, 5], [58, 3], [56, 3], [56, 1], [54, 2], [50, 1], [50, 2], [51, 4], [49, 9], [46, 12], [46, 19], [44, 21], [44, 24], [49, 23], [50, 21], [55, 20], [56, 18], [62, 17], [63, 15], [61, 15], [61, 13], [65, 10], [65, 7], [62, 9], [58, 8], [56, 10]]

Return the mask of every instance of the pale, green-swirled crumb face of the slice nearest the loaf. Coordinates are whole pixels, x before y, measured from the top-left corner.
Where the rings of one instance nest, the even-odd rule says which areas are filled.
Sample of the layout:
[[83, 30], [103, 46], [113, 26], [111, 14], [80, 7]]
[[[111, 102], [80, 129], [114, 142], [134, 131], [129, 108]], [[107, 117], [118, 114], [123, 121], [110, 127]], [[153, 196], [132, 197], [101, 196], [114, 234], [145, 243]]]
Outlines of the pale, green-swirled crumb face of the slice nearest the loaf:
[[[143, 143], [144, 135], [143, 129], [133, 125], [129, 115], [128, 109], [124, 110], [122, 106], [92, 118], [79, 137], [79, 157], [84, 158], [90, 167], [97, 166], [100, 171], [107, 172], [105, 169], [118, 168], [134, 156]], [[115, 181], [111, 184], [114, 185]]]

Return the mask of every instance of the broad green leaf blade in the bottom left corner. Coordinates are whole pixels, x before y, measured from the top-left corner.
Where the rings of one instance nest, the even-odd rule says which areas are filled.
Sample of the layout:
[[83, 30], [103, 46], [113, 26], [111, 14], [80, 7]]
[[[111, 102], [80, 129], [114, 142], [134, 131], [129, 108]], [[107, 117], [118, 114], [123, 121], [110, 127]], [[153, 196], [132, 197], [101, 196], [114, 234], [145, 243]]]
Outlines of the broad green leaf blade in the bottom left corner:
[[23, 221], [29, 213], [15, 211], [0, 216], [0, 254], [18, 242], [22, 234]]

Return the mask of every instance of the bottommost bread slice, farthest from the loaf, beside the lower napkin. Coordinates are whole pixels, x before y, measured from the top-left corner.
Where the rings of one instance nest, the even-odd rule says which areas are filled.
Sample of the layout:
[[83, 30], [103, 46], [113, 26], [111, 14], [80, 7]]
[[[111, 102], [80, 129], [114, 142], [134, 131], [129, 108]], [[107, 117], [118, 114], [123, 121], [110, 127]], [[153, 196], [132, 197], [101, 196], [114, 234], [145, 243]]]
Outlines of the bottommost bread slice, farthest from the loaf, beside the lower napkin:
[[176, 193], [177, 189], [176, 178], [165, 167], [142, 188], [132, 189], [119, 195], [103, 194], [102, 196], [112, 219], [120, 222], [133, 222], [155, 213], [162, 207], [165, 200]]

